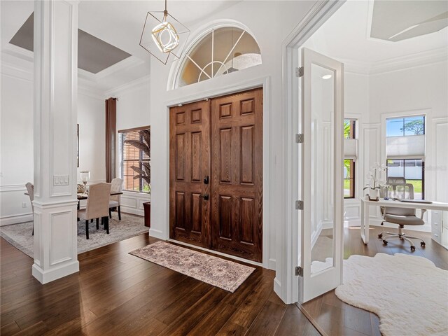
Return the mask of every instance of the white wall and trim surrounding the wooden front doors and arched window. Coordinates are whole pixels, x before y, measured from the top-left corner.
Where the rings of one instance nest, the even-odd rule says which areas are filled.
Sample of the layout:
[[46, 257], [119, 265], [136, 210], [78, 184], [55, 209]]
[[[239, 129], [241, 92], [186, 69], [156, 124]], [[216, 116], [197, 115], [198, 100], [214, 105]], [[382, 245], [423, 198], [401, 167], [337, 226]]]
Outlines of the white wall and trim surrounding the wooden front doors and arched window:
[[[169, 238], [169, 109], [174, 103], [185, 103], [195, 99], [211, 97], [214, 94], [232, 92], [235, 87], [262, 84], [267, 104], [263, 106], [265, 113], [264, 136], [269, 136], [263, 148], [267, 159], [267, 167], [263, 172], [265, 188], [263, 192], [264, 227], [263, 232], [263, 264], [265, 267], [277, 269], [274, 289], [280, 293], [281, 269], [286, 260], [276, 260], [276, 255], [283, 248], [280, 241], [283, 227], [286, 227], [286, 214], [283, 211], [285, 189], [282, 176], [284, 174], [283, 130], [286, 120], [282, 116], [282, 57], [281, 42], [290, 34], [295, 25], [307, 13], [314, 1], [242, 1], [209, 18], [209, 22], [189, 27], [192, 30], [190, 39], [200, 31], [210, 27], [211, 22], [218, 20], [237, 20], [248, 27], [260, 45], [262, 64], [244, 71], [237, 71], [226, 76], [205, 80], [167, 90], [170, 67], [160, 64], [157, 60], [151, 62], [151, 123], [152, 142], [152, 209], [150, 235], [162, 239]], [[172, 65], [172, 69], [176, 64]], [[258, 85], [260, 86], [260, 85]], [[157, 146], [154, 146], [157, 144]], [[280, 233], [279, 233], [280, 232]], [[266, 251], [266, 253], [265, 253]], [[286, 290], [286, 289], [285, 289]]]

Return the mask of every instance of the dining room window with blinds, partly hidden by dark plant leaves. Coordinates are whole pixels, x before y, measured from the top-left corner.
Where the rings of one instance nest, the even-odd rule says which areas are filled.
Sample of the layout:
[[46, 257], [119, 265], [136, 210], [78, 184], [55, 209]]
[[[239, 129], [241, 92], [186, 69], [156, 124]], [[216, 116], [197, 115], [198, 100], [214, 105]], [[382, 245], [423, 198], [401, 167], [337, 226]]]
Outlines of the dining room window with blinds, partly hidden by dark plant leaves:
[[150, 158], [144, 151], [139, 148], [127, 144], [126, 140], [140, 140], [143, 137], [139, 134], [139, 130], [148, 129], [149, 127], [139, 127], [132, 130], [118, 131], [119, 141], [119, 160], [120, 160], [120, 177], [123, 179], [123, 190], [146, 192], [150, 191], [150, 186], [144, 179], [141, 179], [139, 174], [131, 167], [139, 167], [143, 169], [143, 162], [150, 162]]

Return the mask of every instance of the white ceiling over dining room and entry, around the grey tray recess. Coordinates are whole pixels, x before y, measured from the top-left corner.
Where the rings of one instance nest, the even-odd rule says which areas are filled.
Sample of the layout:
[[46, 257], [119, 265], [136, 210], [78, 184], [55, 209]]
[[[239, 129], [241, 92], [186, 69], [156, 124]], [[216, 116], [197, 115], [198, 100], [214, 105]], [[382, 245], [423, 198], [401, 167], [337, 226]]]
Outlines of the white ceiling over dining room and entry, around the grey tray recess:
[[[169, 13], [189, 27], [207, 20], [211, 13], [224, 10], [240, 1], [168, 1]], [[33, 1], [0, 1], [1, 50], [32, 59], [27, 50], [8, 43], [34, 11]], [[93, 75], [80, 70], [80, 83], [90, 83], [99, 90], [111, 90], [149, 75], [151, 55], [139, 45], [146, 13], [163, 10], [165, 1], [80, 1], [78, 28], [129, 52], [132, 57]], [[10, 59], [10, 57], [8, 58]]]

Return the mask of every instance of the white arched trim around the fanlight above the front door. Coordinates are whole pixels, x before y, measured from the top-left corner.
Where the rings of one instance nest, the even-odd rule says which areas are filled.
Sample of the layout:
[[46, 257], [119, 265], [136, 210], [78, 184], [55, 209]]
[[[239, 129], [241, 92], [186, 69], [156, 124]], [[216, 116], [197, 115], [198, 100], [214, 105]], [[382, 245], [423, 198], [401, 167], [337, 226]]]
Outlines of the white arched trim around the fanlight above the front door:
[[[202, 41], [203, 38], [205, 38], [208, 34], [210, 34], [211, 31], [219, 29], [219, 28], [225, 28], [225, 27], [239, 28], [239, 29], [246, 31], [246, 34], [250, 34], [251, 37], [253, 38], [253, 40], [255, 41], [255, 43], [257, 43], [258, 48], [260, 49], [260, 55], [262, 55], [260, 43], [258, 43], [257, 38], [255, 37], [255, 35], [251, 31], [251, 29], [248, 29], [248, 27], [246, 27], [246, 25], [243, 25], [241, 22], [238, 22], [235, 20], [218, 20], [218, 21], [211, 22], [205, 26], [200, 27], [200, 29], [197, 29], [195, 36], [193, 36], [193, 34], [190, 35], [193, 37], [188, 42], [188, 45], [185, 48], [186, 51], [183, 52], [181, 59], [179, 59], [179, 61], [177, 61], [173, 64], [172, 69], [171, 69], [172, 71], [170, 71], [170, 76], [169, 76], [170, 79], [168, 81], [169, 85], [167, 87], [168, 90], [176, 90], [177, 88], [179, 88], [179, 80], [181, 77], [181, 71], [183, 69], [183, 66], [185, 66], [185, 63], [187, 62], [187, 59], [188, 59], [187, 55], [189, 55], [190, 52], [192, 52], [194, 50], [197, 43], [200, 43], [200, 41]], [[210, 79], [213, 79], [213, 78], [210, 78]], [[185, 86], [189, 86], [189, 85], [185, 85]]]

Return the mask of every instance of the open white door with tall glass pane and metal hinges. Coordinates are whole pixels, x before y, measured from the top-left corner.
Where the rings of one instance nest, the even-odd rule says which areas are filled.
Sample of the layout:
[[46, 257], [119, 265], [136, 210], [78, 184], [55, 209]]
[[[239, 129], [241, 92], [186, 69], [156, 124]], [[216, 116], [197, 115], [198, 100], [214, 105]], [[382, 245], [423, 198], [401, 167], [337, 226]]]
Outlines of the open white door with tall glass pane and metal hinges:
[[343, 64], [302, 49], [302, 169], [299, 300], [342, 283]]

